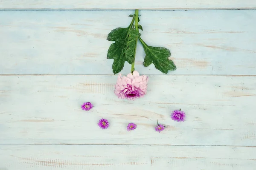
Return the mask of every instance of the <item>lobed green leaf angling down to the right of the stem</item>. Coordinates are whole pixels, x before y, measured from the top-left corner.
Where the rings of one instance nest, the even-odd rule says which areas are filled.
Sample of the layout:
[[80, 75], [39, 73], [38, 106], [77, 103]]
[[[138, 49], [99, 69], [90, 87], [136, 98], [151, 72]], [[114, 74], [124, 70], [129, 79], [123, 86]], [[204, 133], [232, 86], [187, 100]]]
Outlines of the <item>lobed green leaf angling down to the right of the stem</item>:
[[176, 70], [174, 62], [168, 59], [168, 57], [171, 56], [169, 49], [164, 47], [151, 47], [148, 46], [140, 37], [139, 40], [142, 43], [146, 54], [143, 62], [145, 67], [148, 67], [148, 65], [153, 63], [157, 70], [160, 70], [165, 74], [167, 74], [169, 70]]

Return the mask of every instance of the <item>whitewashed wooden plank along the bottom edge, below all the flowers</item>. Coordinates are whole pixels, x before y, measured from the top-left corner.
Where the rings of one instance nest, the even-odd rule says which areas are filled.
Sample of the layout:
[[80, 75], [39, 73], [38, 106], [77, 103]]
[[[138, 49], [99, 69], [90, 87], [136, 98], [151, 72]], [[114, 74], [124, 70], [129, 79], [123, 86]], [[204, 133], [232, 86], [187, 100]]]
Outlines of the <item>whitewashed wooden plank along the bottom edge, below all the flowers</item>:
[[0, 145], [0, 170], [255, 170], [256, 147]]

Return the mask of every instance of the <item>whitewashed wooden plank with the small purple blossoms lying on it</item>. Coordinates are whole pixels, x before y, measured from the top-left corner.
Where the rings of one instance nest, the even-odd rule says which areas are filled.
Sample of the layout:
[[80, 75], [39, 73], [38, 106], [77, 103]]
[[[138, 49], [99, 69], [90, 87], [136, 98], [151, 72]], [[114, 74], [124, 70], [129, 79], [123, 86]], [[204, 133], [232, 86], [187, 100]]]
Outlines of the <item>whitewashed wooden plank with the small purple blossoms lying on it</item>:
[[[148, 94], [135, 101], [117, 99], [116, 78], [0, 76], [0, 144], [255, 146], [256, 76], [150, 76]], [[95, 107], [82, 111], [87, 101]], [[186, 122], [170, 118], [179, 108]], [[157, 119], [168, 126], [161, 133]]]

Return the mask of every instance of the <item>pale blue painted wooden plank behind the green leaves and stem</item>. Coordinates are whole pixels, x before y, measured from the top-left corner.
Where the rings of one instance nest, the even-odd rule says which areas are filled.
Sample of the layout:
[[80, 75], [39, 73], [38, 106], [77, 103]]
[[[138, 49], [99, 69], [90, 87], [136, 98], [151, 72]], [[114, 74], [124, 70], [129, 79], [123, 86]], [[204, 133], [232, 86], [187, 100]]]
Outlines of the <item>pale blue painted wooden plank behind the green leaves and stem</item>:
[[[113, 74], [106, 37], [128, 26], [133, 12], [0, 11], [0, 74]], [[172, 52], [177, 70], [169, 74], [256, 74], [256, 10], [140, 14], [143, 40]], [[135, 68], [162, 74], [144, 68], [144, 56], [138, 43]], [[126, 62], [122, 73], [130, 70]]]

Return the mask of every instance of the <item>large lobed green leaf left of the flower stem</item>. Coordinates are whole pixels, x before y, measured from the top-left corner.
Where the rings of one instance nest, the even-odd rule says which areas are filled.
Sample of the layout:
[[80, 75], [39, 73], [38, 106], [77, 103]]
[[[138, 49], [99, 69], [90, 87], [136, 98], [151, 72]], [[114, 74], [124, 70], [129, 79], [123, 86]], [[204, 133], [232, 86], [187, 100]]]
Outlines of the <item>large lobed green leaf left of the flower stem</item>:
[[128, 28], [116, 28], [108, 34], [107, 40], [115, 41], [108, 49], [107, 59], [114, 59], [113, 73], [119, 73], [125, 65], [134, 62], [134, 51], [139, 33], [130, 25]]

